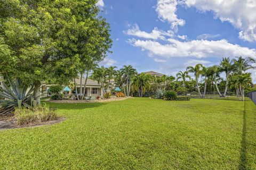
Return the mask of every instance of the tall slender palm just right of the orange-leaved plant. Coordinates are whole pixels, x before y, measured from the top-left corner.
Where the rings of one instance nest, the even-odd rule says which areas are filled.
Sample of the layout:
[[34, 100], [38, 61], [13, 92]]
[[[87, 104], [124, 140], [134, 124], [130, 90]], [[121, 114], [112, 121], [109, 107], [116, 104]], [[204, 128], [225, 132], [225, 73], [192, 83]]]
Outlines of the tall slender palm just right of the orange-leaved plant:
[[126, 92], [125, 92], [125, 84], [123, 83], [124, 94], [126, 96], [130, 95], [132, 77], [137, 73], [137, 71], [131, 65], [124, 65], [121, 69], [124, 79], [126, 80]]

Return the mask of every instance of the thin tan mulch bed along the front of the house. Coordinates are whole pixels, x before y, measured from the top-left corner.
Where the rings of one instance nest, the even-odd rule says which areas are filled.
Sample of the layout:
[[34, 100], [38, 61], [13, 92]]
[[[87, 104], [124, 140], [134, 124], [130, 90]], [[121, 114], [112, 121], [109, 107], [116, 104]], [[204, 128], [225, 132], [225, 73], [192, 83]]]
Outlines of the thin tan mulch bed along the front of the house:
[[131, 99], [133, 97], [113, 97], [110, 99], [96, 99], [96, 100], [48, 100], [53, 103], [101, 103], [110, 101], [122, 101], [125, 99]]

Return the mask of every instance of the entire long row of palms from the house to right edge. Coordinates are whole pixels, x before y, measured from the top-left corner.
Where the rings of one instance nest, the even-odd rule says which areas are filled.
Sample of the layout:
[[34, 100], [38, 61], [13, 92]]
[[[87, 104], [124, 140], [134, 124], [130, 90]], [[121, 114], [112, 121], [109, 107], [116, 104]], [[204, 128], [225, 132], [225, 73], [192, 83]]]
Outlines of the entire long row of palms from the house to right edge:
[[[179, 95], [197, 91], [202, 98], [206, 92], [226, 97], [228, 91], [234, 91], [239, 100], [244, 100], [245, 89], [252, 87], [251, 74], [246, 71], [254, 69], [254, 63], [250, 57], [236, 57], [233, 60], [224, 57], [219, 65], [188, 66], [185, 71], [179, 71], [176, 78], [172, 75], [157, 77], [139, 74], [131, 65], [124, 65], [120, 70], [116, 66], [101, 66], [93, 69], [91, 78], [101, 84], [104, 92], [119, 87], [125, 96], [133, 94], [143, 97], [145, 94], [153, 95], [156, 91], [173, 90]], [[224, 78], [221, 75], [225, 75]]]

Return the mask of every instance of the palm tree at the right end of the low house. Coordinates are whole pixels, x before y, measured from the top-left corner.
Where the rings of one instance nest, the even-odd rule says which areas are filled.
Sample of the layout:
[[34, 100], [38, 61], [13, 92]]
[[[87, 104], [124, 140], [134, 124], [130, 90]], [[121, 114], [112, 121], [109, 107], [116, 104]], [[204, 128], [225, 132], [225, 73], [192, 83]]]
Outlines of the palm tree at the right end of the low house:
[[107, 76], [107, 69], [104, 66], [98, 67], [93, 70], [92, 78], [101, 84], [103, 92], [105, 92], [105, 82]]

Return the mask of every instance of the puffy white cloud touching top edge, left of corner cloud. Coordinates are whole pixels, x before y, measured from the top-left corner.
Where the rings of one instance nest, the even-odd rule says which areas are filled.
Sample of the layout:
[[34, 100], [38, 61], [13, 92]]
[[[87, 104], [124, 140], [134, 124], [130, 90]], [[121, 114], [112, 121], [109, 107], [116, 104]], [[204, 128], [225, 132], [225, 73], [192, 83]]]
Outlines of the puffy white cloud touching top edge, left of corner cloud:
[[179, 25], [185, 25], [185, 20], [178, 19], [176, 14], [177, 11], [177, 0], [158, 0], [156, 6], [156, 12], [158, 18], [162, 21], [168, 21], [171, 23], [171, 28], [177, 31]]

